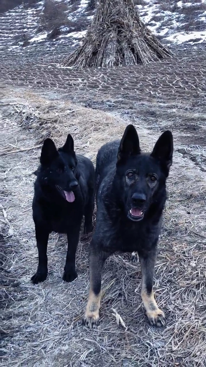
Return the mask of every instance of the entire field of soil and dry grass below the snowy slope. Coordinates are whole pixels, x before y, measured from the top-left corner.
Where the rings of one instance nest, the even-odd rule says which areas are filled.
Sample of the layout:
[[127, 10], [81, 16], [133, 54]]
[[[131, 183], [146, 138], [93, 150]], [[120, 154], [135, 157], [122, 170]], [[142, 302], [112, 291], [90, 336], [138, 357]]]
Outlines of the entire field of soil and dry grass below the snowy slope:
[[[2, 366], [206, 366], [206, 50], [173, 51], [172, 59], [110, 70], [57, 69], [58, 52], [1, 62]], [[73, 283], [62, 280], [66, 237], [54, 233], [48, 278], [30, 282], [38, 259], [32, 172], [44, 138], [60, 146], [70, 132], [76, 152], [95, 163], [129, 123], [142, 150], [166, 129], [174, 137], [154, 284], [167, 325], [149, 326], [140, 264], [115, 254], [103, 272], [100, 324], [88, 330], [90, 238], [78, 245]]]

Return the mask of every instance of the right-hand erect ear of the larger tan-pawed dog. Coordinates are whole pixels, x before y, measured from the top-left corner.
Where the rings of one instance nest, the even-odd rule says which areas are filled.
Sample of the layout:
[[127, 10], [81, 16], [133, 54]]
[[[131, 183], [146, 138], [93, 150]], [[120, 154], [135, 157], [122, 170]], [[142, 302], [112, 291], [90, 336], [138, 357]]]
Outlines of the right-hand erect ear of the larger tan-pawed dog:
[[154, 157], [162, 162], [166, 163], [168, 170], [172, 166], [173, 155], [173, 137], [170, 130], [166, 130], [159, 137], [154, 149], [152, 150], [151, 157]]

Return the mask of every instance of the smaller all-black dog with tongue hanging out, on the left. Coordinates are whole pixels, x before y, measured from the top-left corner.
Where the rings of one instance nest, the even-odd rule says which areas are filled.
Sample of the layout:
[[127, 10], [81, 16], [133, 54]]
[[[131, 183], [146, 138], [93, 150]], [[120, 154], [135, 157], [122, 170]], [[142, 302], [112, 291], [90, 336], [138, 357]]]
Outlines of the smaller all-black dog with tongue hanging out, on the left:
[[63, 280], [77, 278], [76, 250], [84, 215], [84, 233], [92, 232], [95, 198], [95, 169], [88, 158], [76, 155], [69, 134], [65, 145], [56, 149], [45, 139], [41, 149], [40, 167], [34, 174], [33, 220], [38, 248], [38, 268], [34, 284], [47, 278], [47, 243], [52, 231], [66, 233], [68, 250]]

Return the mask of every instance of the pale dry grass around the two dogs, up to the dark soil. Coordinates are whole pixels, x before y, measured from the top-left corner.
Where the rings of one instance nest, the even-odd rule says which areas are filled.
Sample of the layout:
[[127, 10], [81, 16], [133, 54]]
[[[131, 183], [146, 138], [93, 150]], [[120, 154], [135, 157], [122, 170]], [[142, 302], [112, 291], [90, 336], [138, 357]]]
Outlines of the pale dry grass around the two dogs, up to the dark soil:
[[[15, 95], [15, 99], [14, 99]], [[95, 161], [105, 141], [120, 137], [126, 119], [84, 108], [67, 100], [48, 101], [28, 92], [11, 92], [4, 103], [3, 207], [7, 213], [2, 283], [4, 333], [2, 365], [7, 366], [205, 366], [206, 363], [206, 174], [181, 153], [174, 153], [168, 179], [155, 295], [165, 311], [164, 329], [148, 325], [140, 296], [140, 265], [128, 254], [108, 259], [103, 273], [100, 326], [80, 324], [89, 288], [88, 243], [77, 252], [78, 279], [63, 283], [66, 239], [52, 234], [49, 275], [33, 286], [37, 266], [32, 221], [34, 176], [44, 137], [61, 145], [70, 132], [77, 152]], [[178, 113], [178, 112], [177, 112]], [[151, 150], [160, 131], [136, 124], [141, 147]], [[176, 148], [181, 148], [178, 130]], [[10, 154], [8, 154], [10, 148]], [[13, 153], [14, 150], [29, 149]], [[13, 230], [8, 235], [9, 227]]]

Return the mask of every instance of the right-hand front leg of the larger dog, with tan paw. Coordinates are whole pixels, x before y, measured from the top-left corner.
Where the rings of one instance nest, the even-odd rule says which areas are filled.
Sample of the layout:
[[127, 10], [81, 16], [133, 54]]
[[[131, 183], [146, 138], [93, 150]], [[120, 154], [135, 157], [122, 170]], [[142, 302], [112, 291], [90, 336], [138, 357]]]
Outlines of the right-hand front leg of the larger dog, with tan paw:
[[147, 255], [144, 254], [144, 256], [142, 256], [139, 254], [142, 279], [141, 297], [150, 325], [161, 327], [166, 325], [165, 314], [158, 308], [153, 293], [153, 276], [156, 254], [157, 248], [151, 250]]

